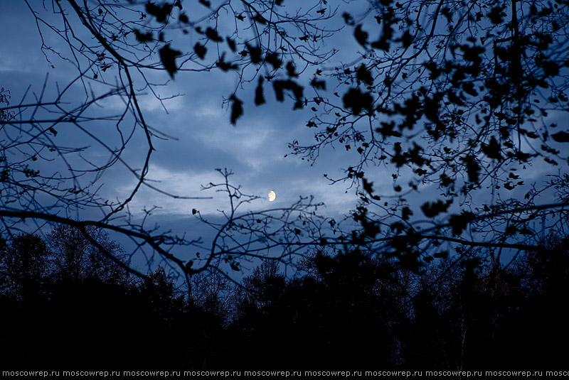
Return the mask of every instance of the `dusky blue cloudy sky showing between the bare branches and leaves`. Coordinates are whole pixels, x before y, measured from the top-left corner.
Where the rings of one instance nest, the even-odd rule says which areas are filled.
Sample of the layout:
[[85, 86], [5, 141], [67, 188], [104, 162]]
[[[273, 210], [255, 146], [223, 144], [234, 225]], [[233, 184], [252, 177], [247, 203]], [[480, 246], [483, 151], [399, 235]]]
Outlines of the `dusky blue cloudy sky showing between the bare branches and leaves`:
[[[49, 3], [49, 2], [47, 2]], [[46, 3], [46, 4], [47, 4]], [[46, 21], [58, 23], [59, 18], [50, 14], [50, 9], [43, 9], [40, 2], [30, 1]], [[287, 2], [291, 9], [294, 6], [306, 6], [302, 2]], [[339, 28], [344, 25], [341, 17], [344, 11], [350, 11], [356, 19], [365, 16], [368, 3], [356, 1], [339, 3], [336, 15], [327, 21], [326, 25]], [[48, 6], [49, 7], [49, 6]], [[186, 11], [203, 11], [200, 6]], [[196, 16], [197, 17], [197, 16]], [[364, 26], [369, 26], [368, 21], [363, 21]], [[230, 25], [221, 20], [219, 27], [223, 31]], [[373, 18], [371, 18], [373, 23]], [[367, 23], [367, 24], [366, 24]], [[9, 38], [0, 39], [0, 86], [11, 92], [12, 104], [19, 102], [33, 102], [34, 97], [41, 92], [44, 81], [47, 81], [45, 99], [53, 98], [54, 94], [67, 85], [71, 78], [77, 76], [77, 68], [61, 57], [41, 50], [42, 40], [38, 34], [36, 22], [31, 11], [22, 1], [11, 1], [4, 4], [4, 11], [0, 14], [0, 28], [3, 36]], [[371, 28], [371, 26], [370, 26]], [[82, 28], [76, 28], [78, 36], [89, 40], [88, 35]], [[54, 50], [68, 54], [63, 40], [54, 33], [50, 33], [46, 26], [42, 26], [43, 42]], [[195, 33], [186, 37], [175, 37], [171, 45], [173, 48], [191, 48], [197, 41]], [[354, 42], [353, 29], [344, 28], [336, 32], [334, 38], [326, 40], [327, 49], [337, 51], [328, 62], [321, 65], [321, 69], [333, 70], [341, 62], [349, 62], [351, 65], [358, 64], [352, 60], [359, 46]], [[208, 45], [210, 53], [213, 50]], [[156, 55], [149, 58], [149, 62], [157, 63]], [[191, 69], [190, 63], [182, 66], [183, 69]], [[301, 81], [305, 86], [312, 79], [315, 67], [309, 67]], [[112, 82], [117, 73], [113, 69], [105, 74], [105, 80]], [[258, 195], [260, 198], [249, 205], [245, 205], [242, 211], [260, 211], [270, 207], [288, 207], [296, 202], [299, 197], [314, 195], [315, 202], [323, 202], [325, 207], [320, 207], [319, 212], [326, 217], [342, 219], [349, 210], [356, 206], [356, 188], [351, 183], [340, 182], [331, 185], [329, 178], [343, 176], [342, 169], [356, 163], [358, 154], [353, 151], [346, 152], [343, 146], [328, 147], [321, 151], [320, 156], [314, 163], [303, 161], [298, 156], [291, 155], [288, 144], [298, 140], [301, 144], [311, 144], [314, 141], [314, 130], [307, 128], [307, 120], [312, 116], [309, 107], [302, 110], [292, 110], [291, 99], [279, 103], [275, 100], [275, 94], [270, 86], [265, 87], [265, 99], [267, 103], [255, 107], [256, 81], [239, 85], [237, 77], [232, 73], [211, 70], [208, 72], [181, 71], [176, 73], [171, 80], [166, 72], [148, 70], [147, 80], [156, 83], [154, 87], [156, 95], [164, 100], [159, 102], [154, 94], [148, 89], [141, 92], [146, 95], [139, 97], [142, 112], [147, 123], [161, 133], [169, 136], [166, 139], [154, 139], [156, 151], [152, 154], [147, 179], [152, 185], [182, 197], [211, 197], [211, 199], [175, 199], [156, 192], [149, 188], [142, 188], [137, 196], [129, 202], [129, 212], [134, 220], [140, 220], [144, 216], [143, 210], [154, 209], [147, 219], [146, 225], [158, 225], [162, 230], [172, 229], [179, 234], [185, 234], [188, 239], [202, 237], [203, 244], [211, 244], [213, 234], [211, 229], [196, 223], [196, 217], [192, 210], [196, 209], [201, 215], [212, 220], [220, 220], [220, 210], [228, 210], [228, 199], [223, 193], [215, 191], [202, 191], [201, 186], [208, 183], [218, 183], [221, 176], [216, 173], [216, 168], [228, 168], [235, 173], [231, 178], [234, 185], [240, 185], [241, 190], [250, 195]], [[245, 78], [254, 77], [255, 72], [245, 72]], [[140, 78], [138, 78], [140, 79]], [[95, 92], [105, 89], [104, 86], [91, 82]], [[90, 87], [91, 88], [91, 87]], [[235, 89], [238, 89], [238, 97], [244, 102], [244, 114], [235, 126], [230, 124], [230, 111], [228, 104], [223, 104]], [[344, 91], [345, 88], [341, 88]], [[333, 80], [327, 80], [325, 96], [333, 97], [338, 91]], [[305, 96], [311, 97], [312, 89], [306, 86]], [[26, 93], [26, 97], [24, 97]], [[66, 107], [73, 107], [74, 102], [82, 99], [83, 86], [76, 83], [68, 90], [63, 98]], [[23, 99], [23, 100], [22, 100]], [[117, 98], [105, 99], [97, 103], [87, 114], [90, 115], [115, 115], [120, 112], [123, 105]], [[40, 113], [41, 114], [41, 111]], [[46, 117], [49, 116], [45, 114]], [[134, 170], [142, 168], [146, 142], [142, 131], [129, 129], [127, 115], [124, 122], [123, 133], [133, 133], [132, 139], [127, 144], [127, 150], [123, 153], [125, 163]], [[558, 119], [553, 115], [552, 119]], [[563, 124], [563, 120], [560, 124]], [[90, 131], [108, 146], [116, 147], [119, 134], [114, 122], [92, 121]], [[73, 129], [70, 124], [58, 126], [58, 135], [53, 139], [62, 146], [84, 146], [85, 151], [81, 155], [70, 155], [70, 161], [77, 168], [88, 168], [89, 163], [103, 164], [109, 159], [108, 152], [93, 141], [83, 131]], [[286, 157], [285, 157], [286, 156]], [[63, 170], [64, 163], [60, 157], [53, 156], [54, 161], [39, 162], [38, 169], [46, 173], [59, 173]], [[523, 188], [514, 192], [505, 192], [504, 189], [496, 190], [482, 188], [474, 194], [474, 202], [494, 202], [500, 197], [522, 199], [528, 189], [536, 184], [538, 187], [546, 183], [548, 174], [566, 172], [566, 163], [562, 163], [559, 169], [551, 168], [551, 165], [538, 161], [533, 165], [519, 168], [526, 182]], [[64, 171], [64, 170], [63, 170]], [[374, 190], [380, 195], [393, 195], [394, 181], [391, 177], [393, 168], [376, 166], [368, 168], [366, 176], [374, 183]], [[401, 170], [399, 183], [405, 183], [409, 175]], [[87, 174], [80, 181], [88, 183], [92, 176]], [[98, 192], [104, 198], [110, 200], [124, 200], [136, 185], [137, 179], [132, 173], [117, 163], [97, 178], [96, 185], [100, 186]], [[269, 202], [267, 192], [274, 190], [277, 200]], [[433, 200], [439, 195], [436, 188], [423, 186], [417, 193], [411, 193], [408, 197], [410, 205], [420, 207], [425, 200]], [[541, 197], [543, 202], [553, 200], [551, 193], [545, 193]], [[452, 207], [459, 210], [459, 200], [455, 200]], [[82, 210], [75, 212], [75, 217], [80, 219], [101, 217], [99, 210]], [[417, 219], [422, 219], [420, 213], [415, 213]], [[127, 241], [121, 241], [128, 244]], [[181, 251], [176, 254], [188, 255]], [[191, 255], [190, 253], [189, 255]], [[142, 263], [144, 260], [139, 260]], [[142, 264], [141, 264], [142, 265]]]

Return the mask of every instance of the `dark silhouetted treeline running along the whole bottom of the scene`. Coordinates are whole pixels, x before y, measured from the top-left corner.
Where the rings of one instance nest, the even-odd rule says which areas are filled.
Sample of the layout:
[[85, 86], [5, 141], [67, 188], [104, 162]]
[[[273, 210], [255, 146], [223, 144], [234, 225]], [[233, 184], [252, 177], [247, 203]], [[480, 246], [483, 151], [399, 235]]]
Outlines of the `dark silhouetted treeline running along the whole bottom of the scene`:
[[543, 369], [569, 337], [569, 240], [553, 235], [506, 268], [482, 251], [411, 271], [320, 249], [294, 278], [264, 261], [243, 286], [211, 271], [186, 291], [164, 268], [129, 276], [71, 227], [0, 259], [3, 368]]

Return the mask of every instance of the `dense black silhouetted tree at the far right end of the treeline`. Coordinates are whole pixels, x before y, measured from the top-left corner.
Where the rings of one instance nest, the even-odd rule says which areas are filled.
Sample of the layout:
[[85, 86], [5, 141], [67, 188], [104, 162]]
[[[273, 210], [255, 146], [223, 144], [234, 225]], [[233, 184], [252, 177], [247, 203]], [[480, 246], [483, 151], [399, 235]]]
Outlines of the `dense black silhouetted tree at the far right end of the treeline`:
[[514, 266], [519, 296], [500, 325], [501, 351], [507, 352], [507, 359], [536, 368], [563, 362], [559, 347], [569, 338], [563, 301], [569, 291], [568, 239], [548, 234], [540, 243], [538, 251], [526, 252]]

